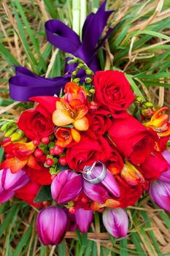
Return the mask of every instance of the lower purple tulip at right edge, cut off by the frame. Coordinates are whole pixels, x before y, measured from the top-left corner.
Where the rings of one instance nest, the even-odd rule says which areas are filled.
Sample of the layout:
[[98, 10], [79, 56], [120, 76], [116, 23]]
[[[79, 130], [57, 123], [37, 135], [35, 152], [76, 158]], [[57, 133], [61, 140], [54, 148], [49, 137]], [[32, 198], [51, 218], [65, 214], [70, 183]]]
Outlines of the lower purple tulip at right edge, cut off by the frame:
[[170, 211], [170, 183], [156, 180], [150, 184], [150, 197], [161, 208]]

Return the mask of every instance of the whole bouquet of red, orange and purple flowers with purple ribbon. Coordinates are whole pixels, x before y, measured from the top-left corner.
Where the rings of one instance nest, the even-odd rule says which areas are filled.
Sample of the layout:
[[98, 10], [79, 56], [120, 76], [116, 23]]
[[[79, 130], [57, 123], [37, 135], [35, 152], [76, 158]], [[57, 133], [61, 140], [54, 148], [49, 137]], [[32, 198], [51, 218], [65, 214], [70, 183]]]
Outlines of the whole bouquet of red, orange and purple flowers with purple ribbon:
[[41, 208], [45, 245], [58, 245], [68, 230], [87, 233], [95, 211], [112, 236], [125, 237], [125, 208], [147, 192], [170, 211], [167, 108], [136, 95], [120, 70], [99, 69], [96, 51], [113, 30], [98, 42], [112, 13], [105, 5], [85, 20], [82, 42], [59, 20], [45, 24], [50, 43], [69, 53], [63, 77], [16, 67], [9, 80], [12, 99], [34, 108], [17, 122], [1, 120], [0, 202], [15, 196]]

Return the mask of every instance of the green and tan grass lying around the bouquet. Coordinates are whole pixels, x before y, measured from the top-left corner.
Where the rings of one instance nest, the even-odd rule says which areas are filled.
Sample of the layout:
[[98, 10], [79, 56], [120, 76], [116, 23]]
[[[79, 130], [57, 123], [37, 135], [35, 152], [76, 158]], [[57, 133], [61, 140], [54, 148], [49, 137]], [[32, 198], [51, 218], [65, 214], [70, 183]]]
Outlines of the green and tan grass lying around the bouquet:
[[[14, 65], [23, 65], [38, 75], [61, 75], [64, 54], [45, 37], [44, 24], [50, 18], [72, 27], [72, 0], [9, 0], [0, 7], [0, 117], [15, 118], [31, 103], [9, 99], [8, 79]], [[80, 3], [80, 1], [77, 1]], [[99, 7], [98, 0], [87, 1], [87, 13]], [[109, 23], [115, 31], [99, 50], [102, 69], [122, 69], [136, 95], [160, 108], [170, 99], [170, 1], [113, 0], [109, 10], [117, 10]], [[1, 138], [3, 134], [1, 134]], [[2, 159], [3, 152], [0, 151]], [[127, 209], [127, 238], [115, 239], [95, 220], [88, 234], [67, 233], [59, 246], [43, 246], [36, 236], [37, 209], [17, 198], [0, 206], [0, 254], [2, 256], [89, 256], [89, 255], [170, 255], [169, 213], [144, 195]]]

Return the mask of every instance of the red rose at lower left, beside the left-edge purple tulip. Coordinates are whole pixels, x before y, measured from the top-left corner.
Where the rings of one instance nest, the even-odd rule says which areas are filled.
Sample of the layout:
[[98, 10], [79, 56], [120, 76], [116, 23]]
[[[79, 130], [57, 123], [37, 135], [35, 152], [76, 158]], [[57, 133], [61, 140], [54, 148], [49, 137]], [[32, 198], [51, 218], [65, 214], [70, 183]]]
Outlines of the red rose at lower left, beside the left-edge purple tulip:
[[41, 186], [39, 184], [30, 181], [26, 184], [26, 186], [15, 191], [15, 197], [23, 199], [31, 206], [42, 207], [43, 203], [34, 203], [34, 199], [38, 194], [40, 187]]

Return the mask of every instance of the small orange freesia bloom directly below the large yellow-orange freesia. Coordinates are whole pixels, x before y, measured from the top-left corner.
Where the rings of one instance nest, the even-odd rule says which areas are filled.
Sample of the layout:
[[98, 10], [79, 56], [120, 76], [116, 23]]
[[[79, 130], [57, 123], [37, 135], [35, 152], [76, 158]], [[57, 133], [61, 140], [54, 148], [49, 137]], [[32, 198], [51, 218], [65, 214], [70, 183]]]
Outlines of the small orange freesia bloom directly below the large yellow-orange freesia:
[[59, 127], [55, 131], [55, 136], [58, 139], [56, 144], [65, 148], [72, 140], [80, 142], [80, 133], [74, 128]]

